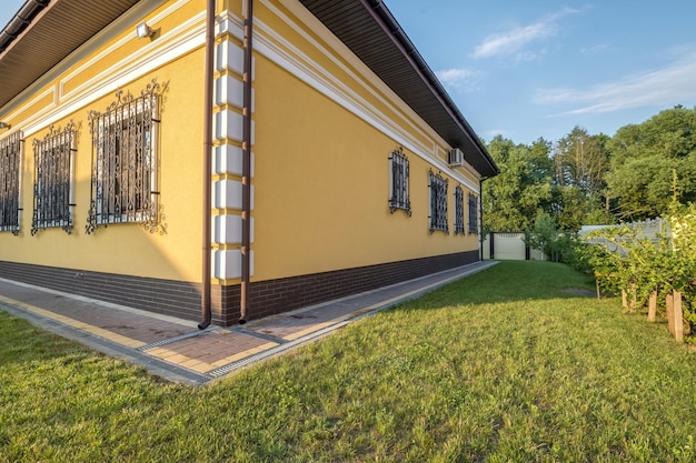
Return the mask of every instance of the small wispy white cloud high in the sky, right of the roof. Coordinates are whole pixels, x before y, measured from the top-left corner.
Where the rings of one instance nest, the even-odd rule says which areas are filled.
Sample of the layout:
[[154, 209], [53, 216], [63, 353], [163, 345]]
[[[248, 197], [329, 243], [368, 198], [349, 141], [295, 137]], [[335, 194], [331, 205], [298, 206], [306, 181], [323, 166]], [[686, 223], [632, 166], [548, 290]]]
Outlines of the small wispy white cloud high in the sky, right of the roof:
[[[536, 40], [555, 36], [558, 31], [557, 21], [568, 14], [577, 13], [579, 10], [565, 8], [561, 11], [546, 16], [539, 21], [515, 28], [504, 33], [488, 36], [481, 44], [474, 50], [474, 58], [490, 58], [500, 54], [516, 54], [525, 46]], [[518, 57], [528, 60], [537, 53], [524, 52]]]

